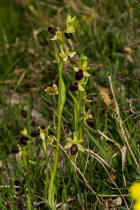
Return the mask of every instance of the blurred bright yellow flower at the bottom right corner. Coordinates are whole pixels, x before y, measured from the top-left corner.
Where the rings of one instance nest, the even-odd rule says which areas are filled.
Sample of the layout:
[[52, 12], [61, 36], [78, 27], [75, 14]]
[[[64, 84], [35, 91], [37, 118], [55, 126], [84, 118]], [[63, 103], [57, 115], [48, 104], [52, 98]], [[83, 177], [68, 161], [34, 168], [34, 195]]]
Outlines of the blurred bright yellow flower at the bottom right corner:
[[134, 210], [140, 210], [140, 182], [134, 182], [129, 188], [132, 198], [136, 201], [134, 204]]

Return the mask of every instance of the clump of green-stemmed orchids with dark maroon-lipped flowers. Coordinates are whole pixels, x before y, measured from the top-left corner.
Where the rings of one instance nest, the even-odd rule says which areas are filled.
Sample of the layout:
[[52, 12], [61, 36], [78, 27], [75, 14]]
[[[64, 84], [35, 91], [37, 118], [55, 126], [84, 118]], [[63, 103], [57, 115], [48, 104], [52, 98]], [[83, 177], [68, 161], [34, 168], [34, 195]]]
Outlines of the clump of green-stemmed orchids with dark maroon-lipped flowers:
[[[64, 149], [69, 151], [70, 155], [72, 156], [72, 160], [76, 161], [76, 156], [78, 151], [84, 152], [84, 147], [82, 146], [83, 143], [83, 135], [82, 135], [82, 121], [87, 125], [92, 125], [92, 115], [90, 110], [86, 113], [85, 111], [85, 104], [90, 103], [90, 100], [86, 97], [86, 85], [88, 82], [88, 78], [90, 74], [89, 66], [87, 63], [87, 57], [84, 55], [80, 55], [79, 60], [75, 59], [76, 52], [71, 52], [71, 50], [66, 46], [66, 40], [71, 39], [75, 33], [75, 24], [76, 24], [76, 17], [72, 17], [70, 14], [67, 16], [66, 20], [66, 29], [61, 31], [59, 27], [49, 27], [48, 32], [53, 36], [50, 40], [51, 41], [58, 41], [59, 48], [54, 47], [55, 57], [58, 64], [58, 75], [59, 75], [59, 83], [58, 87], [56, 84], [53, 84], [52, 87], [46, 87], [45, 92], [52, 96], [58, 96], [58, 121], [57, 121], [57, 134], [56, 136], [49, 136], [49, 129], [50, 126], [47, 126], [45, 129], [41, 129], [40, 127], [38, 130], [32, 132], [30, 135], [28, 134], [27, 130], [24, 129], [22, 131], [21, 142], [19, 144], [20, 155], [24, 160], [24, 166], [28, 171], [27, 167], [27, 156], [30, 153], [30, 145], [31, 142], [34, 140], [35, 137], [40, 136], [42, 140], [43, 150], [46, 156], [46, 180], [45, 183], [45, 191], [48, 192], [48, 204], [52, 209], [56, 209], [56, 203], [54, 198], [55, 192], [55, 177], [56, 171], [58, 166], [58, 157], [59, 157], [59, 147], [60, 147], [60, 137], [61, 137], [61, 118], [63, 107], [65, 104], [66, 99], [66, 90], [70, 94], [73, 99], [74, 103], [74, 130], [72, 131], [72, 137], [66, 138], [66, 145]], [[63, 64], [69, 64], [72, 66], [73, 71], [75, 73], [74, 82], [71, 84], [70, 87], [65, 87], [63, 81]], [[90, 123], [88, 123], [90, 121]], [[49, 179], [49, 170], [48, 170], [48, 145], [51, 145], [55, 149], [55, 159], [53, 168], [51, 169], [51, 177]], [[29, 148], [29, 149], [28, 149]], [[25, 151], [28, 150], [28, 153]], [[25, 154], [26, 153], [26, 154]], [[31, 161], [30, 161], [31, 163]], [[33, 162], [32, 162], [33, 163]], [[72, 170], [71, 170], [72, 171]], [[29, 190], [30, 192], [30, 190]], [[30, 195], [28, 196], [30, 198]], [[28, 199], [27, 202], [28, 209], [31, 207], [31, 201]]]

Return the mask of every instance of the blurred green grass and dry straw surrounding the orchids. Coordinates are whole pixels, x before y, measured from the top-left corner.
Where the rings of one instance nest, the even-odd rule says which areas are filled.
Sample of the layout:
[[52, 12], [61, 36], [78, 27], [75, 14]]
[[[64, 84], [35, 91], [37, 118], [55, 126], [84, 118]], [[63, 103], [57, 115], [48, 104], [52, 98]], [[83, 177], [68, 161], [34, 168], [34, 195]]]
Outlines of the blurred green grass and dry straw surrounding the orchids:
[[[55, 183], [57, 209], [132, 208], [128, 188], [134, 181], [140, 181], [139, 1], [3, 0], [0, 1], [0, 209], [27, 208], [27, 174], [15, 154], [21, 130], [26, 127], [31, 133], [38, 126], [51, 124], [52, 133], [56, 131], [57, 100], [44, 91], [58, 79], [47, 29], [49, 26], [63, 29], [68, 12], [77, 17], [76, 34], [68, 45], [72, 51], [88, 57], [91, 69], [87, 92], [93, 101], [89, 108], [94, 126], [85, 128], [83, 146], [87, 152], [79, 152], [76, 162], [88, 184], [77, 171], [70, 172], [70, 161], [60, 153]], [[63, 72], [68, 88], [73, 73], [67, 66]], [[110, 75], [123, 130], [107, 101], [114, 100]], [[68, 96], [62, 118], [62, 145], [73, 128], [72, 108]], [[48, 209], [39, 138], [32, 150], [32, 159], [36, 161], [28, 174], [32, 180], [32, 209]], [[50, 148], [50, 161], [53, 150]], [[67, 189], [69, 177], [71, 185]]]

